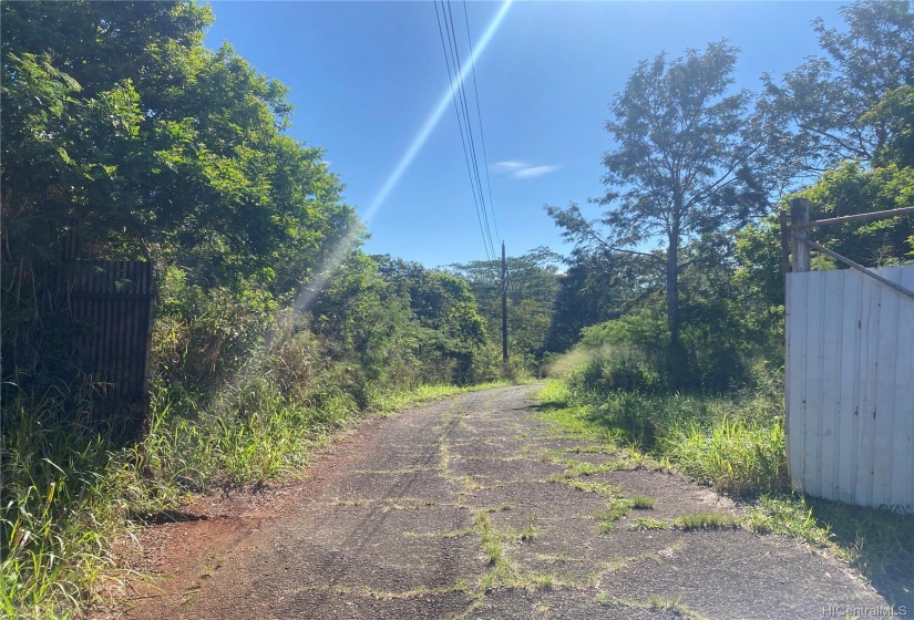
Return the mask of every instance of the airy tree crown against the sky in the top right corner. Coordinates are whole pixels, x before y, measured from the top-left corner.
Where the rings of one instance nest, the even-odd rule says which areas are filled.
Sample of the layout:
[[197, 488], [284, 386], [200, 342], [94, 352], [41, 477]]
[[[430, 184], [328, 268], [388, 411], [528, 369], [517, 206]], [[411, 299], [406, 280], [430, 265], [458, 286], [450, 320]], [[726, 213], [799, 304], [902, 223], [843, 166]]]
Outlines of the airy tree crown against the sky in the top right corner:
[[[842, 7], [846, 29], [813, 22], [824, 56], [780, 83], [766, 76], [762, 108], [783, 127], [781, 148], [801, 170], [871, 162], [885, 148], [912, 152], [914, 13], [907, 1]], [[791, 130], [793, 128], [793, 130]]]

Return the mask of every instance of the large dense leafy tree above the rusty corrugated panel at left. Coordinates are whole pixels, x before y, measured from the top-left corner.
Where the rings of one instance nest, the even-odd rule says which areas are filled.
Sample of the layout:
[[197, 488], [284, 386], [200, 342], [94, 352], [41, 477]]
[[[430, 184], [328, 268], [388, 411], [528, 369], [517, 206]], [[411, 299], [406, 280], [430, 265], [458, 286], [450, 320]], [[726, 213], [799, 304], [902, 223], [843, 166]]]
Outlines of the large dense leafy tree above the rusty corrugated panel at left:
[[230, 46], [203, 45], [207, 7], [74, 0], [0, 11], [4, 376], [39, 376], [38, 362], [66, 349], [66, 291], [48, 266], [69, 231], [81, 258], [152, 258], [186, 273], [181, 290], [199, 287], [215, 303], [226, 289], [260, 312], [294, 297], [357, 226], [322, 151], [284, 134], [286, 87]]

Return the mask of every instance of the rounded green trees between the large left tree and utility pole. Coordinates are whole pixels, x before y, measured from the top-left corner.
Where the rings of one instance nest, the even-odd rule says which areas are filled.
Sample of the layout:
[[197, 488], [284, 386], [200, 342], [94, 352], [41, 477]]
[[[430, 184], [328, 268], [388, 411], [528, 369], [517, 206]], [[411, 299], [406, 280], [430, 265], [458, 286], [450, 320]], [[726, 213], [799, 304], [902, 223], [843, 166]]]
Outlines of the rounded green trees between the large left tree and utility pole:
[[390, 257], [352, 255], [317, 297], [315, 328], [379, 386], [500, 375], [468, 283]]

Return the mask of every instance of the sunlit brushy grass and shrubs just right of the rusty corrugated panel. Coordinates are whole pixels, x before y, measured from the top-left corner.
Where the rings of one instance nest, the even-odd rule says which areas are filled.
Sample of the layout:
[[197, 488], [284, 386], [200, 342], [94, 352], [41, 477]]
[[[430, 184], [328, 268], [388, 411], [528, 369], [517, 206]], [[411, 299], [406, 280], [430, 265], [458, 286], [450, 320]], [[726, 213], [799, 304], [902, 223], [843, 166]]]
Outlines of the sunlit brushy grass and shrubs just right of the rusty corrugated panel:
[[167, 391], [158, 394], [143, 443], [152, 476], [206, 490], [297, 471], [316, 445], [360, 412], [353, 395], [340, 388], [346, 368], [320, 349], [309, 331], [287, 323], [194, 418]]

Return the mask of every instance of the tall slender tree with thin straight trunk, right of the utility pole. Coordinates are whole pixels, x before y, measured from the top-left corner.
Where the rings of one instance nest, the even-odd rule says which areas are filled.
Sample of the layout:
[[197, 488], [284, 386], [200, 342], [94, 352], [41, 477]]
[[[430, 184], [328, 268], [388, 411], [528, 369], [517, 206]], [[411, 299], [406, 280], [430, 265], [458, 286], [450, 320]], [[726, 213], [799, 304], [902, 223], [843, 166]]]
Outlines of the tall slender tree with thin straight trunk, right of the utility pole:
[[[576, 205], [546, 206], [567, 239], [640, 256], [664, 273], [674, 363], [680, 358], [679, 278], [690, 265], [680, 260], [680, 245], [737, 227], [767, 206], [752, 96], [727, 94], [737, 53], [720, 41], [674, 60], [661, 53], [641, 61], [606, 123], [616, 146], [604, 156], [607, 190], [595, 202], [607, 210], [592, 221]], [[650, 241], [659, 249], [644, 251]]]

